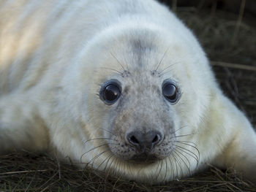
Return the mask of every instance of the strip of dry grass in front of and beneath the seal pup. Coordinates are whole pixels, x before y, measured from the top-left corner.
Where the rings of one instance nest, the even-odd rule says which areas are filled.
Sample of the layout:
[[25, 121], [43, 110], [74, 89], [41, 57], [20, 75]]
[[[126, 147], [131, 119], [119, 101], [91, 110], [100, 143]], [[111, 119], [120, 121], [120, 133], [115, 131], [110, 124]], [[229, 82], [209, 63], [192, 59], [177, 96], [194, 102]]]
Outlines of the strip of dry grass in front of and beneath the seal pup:
[[144, 185], [92, 170], [78, 170], [45, 155], [2, 155], [0, 191], [256, 191], [233, 172], [211, 166], [184, 180], [165, 185]]

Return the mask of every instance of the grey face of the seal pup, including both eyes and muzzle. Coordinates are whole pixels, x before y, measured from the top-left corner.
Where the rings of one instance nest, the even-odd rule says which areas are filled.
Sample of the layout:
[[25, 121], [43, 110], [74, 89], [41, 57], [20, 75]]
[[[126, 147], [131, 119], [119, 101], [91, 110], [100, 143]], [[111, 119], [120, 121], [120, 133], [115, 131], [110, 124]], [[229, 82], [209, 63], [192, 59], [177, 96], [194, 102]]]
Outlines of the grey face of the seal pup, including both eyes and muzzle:
[[[173, 80], [159, 81], [156, 73], [129, 72], [125, 84], [108, 80], [99, 91], [109, 113], [109, 145], [113, 154], [127, 161], [151, 162], [170, 155], [175, 146], [176, 121], [169, 105], [181, 96]], [[140, 83], [138, 83], [140, 81]], [[162, 106], [162, 107], [159, 107]], [[109, 133], [108, 133], [109, 134]]]

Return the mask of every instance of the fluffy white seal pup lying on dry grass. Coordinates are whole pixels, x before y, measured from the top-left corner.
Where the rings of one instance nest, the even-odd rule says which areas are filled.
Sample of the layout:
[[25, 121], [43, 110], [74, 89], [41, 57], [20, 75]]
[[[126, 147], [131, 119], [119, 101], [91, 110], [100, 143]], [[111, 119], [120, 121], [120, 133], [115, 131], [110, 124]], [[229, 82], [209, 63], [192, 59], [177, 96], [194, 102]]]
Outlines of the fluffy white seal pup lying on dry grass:
[[143, 182], [234, 166], [256, 134], [195, 37], [152, 0], [0, 1], [0, 152], [48, 151]]

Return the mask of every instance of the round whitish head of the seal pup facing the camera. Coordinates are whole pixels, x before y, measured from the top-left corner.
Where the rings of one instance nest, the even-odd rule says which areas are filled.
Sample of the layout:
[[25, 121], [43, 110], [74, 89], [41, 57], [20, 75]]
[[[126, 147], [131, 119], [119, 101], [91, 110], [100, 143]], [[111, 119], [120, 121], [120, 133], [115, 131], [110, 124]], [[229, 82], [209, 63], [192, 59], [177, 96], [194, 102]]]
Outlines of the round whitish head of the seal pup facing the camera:
[[84, 50], [79, 82], [87, 83], [86, 129], [95, 138], [97, 169], [105, 164], [140, 180], [157, 170], [164, 180], [195, 169], [196, 132], [213, 77], [205, 75], [207, 60], [192, 34], [182, 35], [121, 28], [104, 31]]

